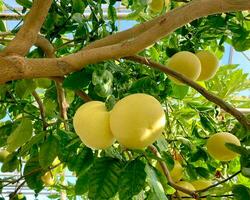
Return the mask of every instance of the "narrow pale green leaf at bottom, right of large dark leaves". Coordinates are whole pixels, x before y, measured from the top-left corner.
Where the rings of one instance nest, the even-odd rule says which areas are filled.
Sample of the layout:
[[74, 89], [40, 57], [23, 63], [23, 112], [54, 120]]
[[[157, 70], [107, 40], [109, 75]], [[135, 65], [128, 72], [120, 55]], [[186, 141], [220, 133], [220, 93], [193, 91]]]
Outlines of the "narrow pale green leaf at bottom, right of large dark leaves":
[[154, 169], [152, 169], [147, 164], [145, 170], [147, 173], [147, 182], [148, 182], [150, 188], [154, 191], [154, 194], [157, 196], [157, 199], [167, 200], [164, 189], [163, 189], [160, 181], [157, 179], [157, 175], [156, 175]]

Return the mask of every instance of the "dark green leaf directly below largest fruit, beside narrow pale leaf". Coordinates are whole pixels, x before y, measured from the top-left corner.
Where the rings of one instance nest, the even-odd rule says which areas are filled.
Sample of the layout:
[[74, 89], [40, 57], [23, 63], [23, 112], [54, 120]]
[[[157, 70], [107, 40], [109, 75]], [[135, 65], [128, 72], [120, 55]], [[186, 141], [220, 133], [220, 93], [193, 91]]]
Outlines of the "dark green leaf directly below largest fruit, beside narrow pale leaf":
[[146, 180], [145, 164], [136, 159], [124, 169], [119, 179], [119, 199], [130, 200], [144, 187]]

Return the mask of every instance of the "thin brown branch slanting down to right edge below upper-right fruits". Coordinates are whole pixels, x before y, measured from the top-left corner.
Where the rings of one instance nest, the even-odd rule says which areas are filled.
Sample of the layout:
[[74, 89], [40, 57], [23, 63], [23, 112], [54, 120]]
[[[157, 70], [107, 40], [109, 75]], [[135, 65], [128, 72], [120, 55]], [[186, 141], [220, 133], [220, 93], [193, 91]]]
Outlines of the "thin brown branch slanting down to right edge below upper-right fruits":
[[195, 89], [197, 92], [199, 92], [202, 96], [204, 96], [207, 100], [215, 103], [216, 105], [220, 106], [224, 111], [230, 113], [232, 116], [234, 116], [243, 126], [245, 126], [247, 129], [250, 129], [250, 121], [237, 109], [235, 109], [233, 106], [231, 106], [229, 103], [223, 101], [219, 97], [215, 96], [214, 94], [208, 92], [205, 88], [201, 87], [196, 82], [186, 78], [184, 75], [168, 68], [165, 65], [156, 63], [154, 61], [151, 61], [147, 58], [141, 57], [141, 56], [130, 56], [126, 59], [132, 60], [141, 64], [145, 64], [149, 67], [159, 69], [163, 71], [164, 73], [176, 78], [177, 80], [181, 81], [182, 83], [185, 83], [189, 86], [191, 86], [193, 89]]

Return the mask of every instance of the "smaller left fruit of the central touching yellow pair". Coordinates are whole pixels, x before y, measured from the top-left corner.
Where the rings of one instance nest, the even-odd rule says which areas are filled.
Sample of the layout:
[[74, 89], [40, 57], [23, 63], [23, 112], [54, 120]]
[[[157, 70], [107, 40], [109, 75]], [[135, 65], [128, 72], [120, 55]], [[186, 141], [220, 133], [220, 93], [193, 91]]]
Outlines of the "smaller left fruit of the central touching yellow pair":
[[74, 129], [82, 142], [93, 149], [106, 149], [114, 142], [109, 126], [110, 114], [103, 102], [83, 104], [73, 118]]

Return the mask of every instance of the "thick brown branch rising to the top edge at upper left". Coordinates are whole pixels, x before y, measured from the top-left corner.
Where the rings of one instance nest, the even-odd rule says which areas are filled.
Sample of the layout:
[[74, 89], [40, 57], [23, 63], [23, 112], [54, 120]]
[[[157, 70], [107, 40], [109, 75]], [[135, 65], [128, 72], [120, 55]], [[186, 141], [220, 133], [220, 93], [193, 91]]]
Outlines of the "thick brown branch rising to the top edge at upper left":
[[36, 42], [38, 32], [48, 14], [52, 0], [35, 0], [24, 24], [16, 37], [3, 50], [2, 55], [18, 54], [25, 56], [30, 47]]

